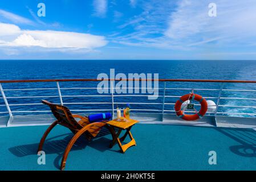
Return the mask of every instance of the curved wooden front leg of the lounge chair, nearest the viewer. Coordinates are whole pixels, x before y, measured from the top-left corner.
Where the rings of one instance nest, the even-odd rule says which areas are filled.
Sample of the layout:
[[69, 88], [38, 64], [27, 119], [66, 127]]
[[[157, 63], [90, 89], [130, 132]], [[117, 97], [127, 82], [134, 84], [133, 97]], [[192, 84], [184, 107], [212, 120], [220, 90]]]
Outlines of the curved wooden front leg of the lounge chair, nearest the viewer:
[[87, 126], [84, 126], [81, 130], [78, 131], [78, 133], [76, 133], [74, 135], [74, 137], [70, 140], [70, 142], [68, 143], [66, 150], [64, 151], [64, 154], [62, 156], [62, 163], [60, 164], [60, 169], [64, 170], [65, 166], [66, 166], [66, 160], [67, 160], [67, 156], [68, 153], [70, 152], [73, 144], [76, 142], [76, 140], [84, 133], [86, 132], [88, 129], [90, 129], [90, 127], [92, 126], [98, 126], [98, 127], [103, 127], [104, 125], [106, 125], [105, 123], [102, 122], [95, 122], [95, 123], [91, 123]]

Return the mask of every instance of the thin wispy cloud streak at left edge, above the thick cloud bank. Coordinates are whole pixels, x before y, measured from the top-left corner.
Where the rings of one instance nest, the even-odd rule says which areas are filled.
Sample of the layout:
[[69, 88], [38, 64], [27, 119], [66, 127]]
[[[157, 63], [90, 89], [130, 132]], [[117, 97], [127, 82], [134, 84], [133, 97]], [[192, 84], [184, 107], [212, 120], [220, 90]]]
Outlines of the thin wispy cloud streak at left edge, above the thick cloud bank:
[[34, 25], [34, 22], [32, 22], [30, 19], [24, 18], [22, 16], [19, 16], [1, 9], [0, 9], [0, 17], [1, 19], [6, 19], [17, 24]]

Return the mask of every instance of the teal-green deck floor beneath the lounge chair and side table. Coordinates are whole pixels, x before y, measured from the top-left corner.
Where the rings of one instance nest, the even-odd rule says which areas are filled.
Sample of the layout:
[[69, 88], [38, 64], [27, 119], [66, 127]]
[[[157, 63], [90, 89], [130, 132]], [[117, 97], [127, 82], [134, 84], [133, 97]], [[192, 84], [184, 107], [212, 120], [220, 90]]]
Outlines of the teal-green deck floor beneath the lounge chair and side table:
[[[72, 133], [56, 126], [44, 144], [46, 164], [38, 165], [36, 149], [47, 127], [0, 128], [0, 170], [59, 170]], [[80, 139], [66, 170], [256, 170], [254, 130], [137, 124], [132, 134], [137, 146], [125, 154], [117, 145], [108, 148], [111, 135]], [[217, 152], [217, 165], [209, 165], [209, 151]]]

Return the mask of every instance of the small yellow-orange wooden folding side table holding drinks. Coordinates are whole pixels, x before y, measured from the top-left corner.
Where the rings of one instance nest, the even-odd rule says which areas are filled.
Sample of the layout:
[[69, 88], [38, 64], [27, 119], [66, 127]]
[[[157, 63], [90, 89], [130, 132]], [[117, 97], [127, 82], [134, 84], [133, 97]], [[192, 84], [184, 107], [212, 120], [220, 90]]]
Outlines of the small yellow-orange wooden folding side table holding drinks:
[[[115, 131], [114, 129], [117, 128], [119, 129], [117, 131], [117, 133], [114, 132], [113, 134], [113, 141], [110, 144], [110, 148], [112, 148], [115, 143], [117, 142], [119, 145], [119, 148], [121, 150], [121, 152], [124, 154], [124, 152], [131, 146], [136, 146], [136, 142], [135, 139], [132, 137], [132, 133], [131, 133], [131, 129], [132, 126], [135, 125], [137, 122], [137, 120], [134, 119], [125, 119], [125, 118], [120, 118], [120, 119], [113, 119], [109, 122], [107, 122], [107, 124], [112, 127], [112, 131]], [[123, 137], [119, 138], [119, 135], [121, 134], [122, 130], [126, 130], [125, 134]], [[124, 139], [127, 137], [127, 135], [129, 135], [131, 142], [122, 145], [121, 142], [124, 141]]]

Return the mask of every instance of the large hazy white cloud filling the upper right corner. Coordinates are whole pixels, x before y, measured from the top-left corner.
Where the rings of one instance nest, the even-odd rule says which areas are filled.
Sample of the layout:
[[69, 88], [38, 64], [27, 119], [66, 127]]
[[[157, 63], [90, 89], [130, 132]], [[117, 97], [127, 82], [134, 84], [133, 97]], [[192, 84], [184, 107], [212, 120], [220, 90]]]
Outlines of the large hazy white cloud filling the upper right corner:
[[[170, 15], [169, 27], [165, 35], [173, 40], [185, 43], [208, 43], [204, 39], [233, 39], [256, 35], [255, 1], [216, 0], [217, 16], [208, 15], [208, 5], [212, 1], [183, 0], [178, 3], [176, 11]], [[222, 42], [222, 39], [220, 39]], [[197, 45], [196, 43], [194, 44]]]

